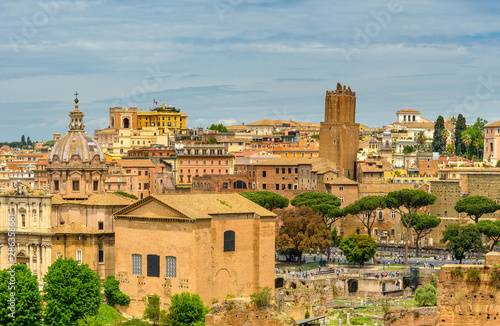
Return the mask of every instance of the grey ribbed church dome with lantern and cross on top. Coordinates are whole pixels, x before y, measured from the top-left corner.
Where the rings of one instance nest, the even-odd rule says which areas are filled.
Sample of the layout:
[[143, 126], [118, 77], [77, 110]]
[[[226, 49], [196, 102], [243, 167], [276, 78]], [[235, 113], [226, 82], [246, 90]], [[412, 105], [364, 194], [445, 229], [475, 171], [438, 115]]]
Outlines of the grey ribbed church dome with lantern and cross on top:
[[74, 155], [78, 155], [83, 162], [90, 162], [96, 155], [100, 161], [104, 161], [101, 147], [85, 132], [84, 114], [78, 110], [78, 98], [75, 99], [75, 109], [69, 116], [71, 117], [69, 131], [54, 145], [49, 161], [57, 157], [61, 162], [69, 162]]

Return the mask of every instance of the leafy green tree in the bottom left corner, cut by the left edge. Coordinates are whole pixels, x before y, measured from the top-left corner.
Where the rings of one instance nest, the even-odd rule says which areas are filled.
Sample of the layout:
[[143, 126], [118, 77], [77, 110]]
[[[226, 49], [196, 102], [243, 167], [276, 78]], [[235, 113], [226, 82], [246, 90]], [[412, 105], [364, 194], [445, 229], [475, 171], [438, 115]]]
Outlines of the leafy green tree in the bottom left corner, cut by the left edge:
[[38, 326], [41, 318], [42, 297], [36, 275], [24, 264], [0, 271], [0, 325]]

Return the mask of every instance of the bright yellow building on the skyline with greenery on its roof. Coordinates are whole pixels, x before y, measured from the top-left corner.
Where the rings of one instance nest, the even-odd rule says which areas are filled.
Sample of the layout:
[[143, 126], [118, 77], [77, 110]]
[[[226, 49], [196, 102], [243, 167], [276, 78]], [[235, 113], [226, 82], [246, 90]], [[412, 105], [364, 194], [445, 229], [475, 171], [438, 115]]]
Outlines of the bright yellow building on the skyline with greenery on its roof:
[[187, 115], [165, 104], [149, 112], [141, 110], [137, 113], [137, 129], [146, 127], [158, 127], [161, 135], [169, 133], [169, 130], [173, 135], [184, 135], [187, 133]]

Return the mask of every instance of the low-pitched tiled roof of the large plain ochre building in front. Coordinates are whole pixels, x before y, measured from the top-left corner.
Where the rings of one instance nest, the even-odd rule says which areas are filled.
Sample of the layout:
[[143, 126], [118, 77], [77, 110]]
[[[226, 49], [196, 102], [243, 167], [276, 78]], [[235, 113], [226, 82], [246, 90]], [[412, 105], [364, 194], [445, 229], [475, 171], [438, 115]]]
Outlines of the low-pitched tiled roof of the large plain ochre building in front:
[[[115, 218], [134, 217], [133, 210], [140, 206], [147, 207], [150, 201], [159, 201], [190, 219], [211, 219], [211, 215], [238, 213], [256, 213], [261, 217], [276, 217], [276, 214], [235, 193], [151, 195], [116, 212], [113, 216]], [[128, 215], [127, 212], [131, 214]], [[154, 213], [148, 214], [148, 217], [149, 215], [154, 215]], [[161, 216], [156, 216], [156, 218], [161, 218]]]

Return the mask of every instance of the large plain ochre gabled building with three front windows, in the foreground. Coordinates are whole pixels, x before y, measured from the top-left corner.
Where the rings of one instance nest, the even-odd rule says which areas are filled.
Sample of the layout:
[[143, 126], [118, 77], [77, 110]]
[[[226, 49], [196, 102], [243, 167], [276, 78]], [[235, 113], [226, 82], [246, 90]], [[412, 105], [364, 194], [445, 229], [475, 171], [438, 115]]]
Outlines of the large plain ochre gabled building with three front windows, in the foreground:
[[144, 311], [142, 298], [198, 293], [205, 305], [249, 297], [274, 284], [276, 215], [238, 194], [153, 195], [114, 214], [115, 277]]

